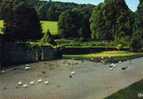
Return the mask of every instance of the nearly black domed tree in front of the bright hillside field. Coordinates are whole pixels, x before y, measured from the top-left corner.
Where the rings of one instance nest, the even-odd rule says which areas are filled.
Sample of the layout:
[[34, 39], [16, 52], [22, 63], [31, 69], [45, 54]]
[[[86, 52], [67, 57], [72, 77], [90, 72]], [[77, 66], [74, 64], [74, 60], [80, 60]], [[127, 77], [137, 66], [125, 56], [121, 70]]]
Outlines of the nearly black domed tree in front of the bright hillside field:
[[11, 27], [5, 23], [7, 40], [36, 40], [42, 37], [42, 29], [37, 12], [26, 5], [18, 6], [12, 18]]

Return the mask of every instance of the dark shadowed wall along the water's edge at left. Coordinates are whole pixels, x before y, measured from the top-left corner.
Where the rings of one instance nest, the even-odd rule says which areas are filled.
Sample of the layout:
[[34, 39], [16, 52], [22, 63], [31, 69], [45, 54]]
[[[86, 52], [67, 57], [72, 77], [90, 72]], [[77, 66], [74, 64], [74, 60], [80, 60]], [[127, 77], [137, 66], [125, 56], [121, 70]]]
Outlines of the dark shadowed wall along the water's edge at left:
[[15, 65], [61, 58], [58, 49], [50, 46], [25, 47], [24, 44], [5, 42], [1, 46], [1, 64]]

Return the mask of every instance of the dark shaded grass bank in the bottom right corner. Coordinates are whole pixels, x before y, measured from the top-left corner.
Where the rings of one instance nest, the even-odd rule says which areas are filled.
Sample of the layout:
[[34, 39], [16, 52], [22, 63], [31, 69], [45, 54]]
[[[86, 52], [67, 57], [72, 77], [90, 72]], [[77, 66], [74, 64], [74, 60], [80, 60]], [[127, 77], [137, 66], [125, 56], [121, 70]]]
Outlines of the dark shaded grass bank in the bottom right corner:
[[140, 80], [104, 99], [143, 99], [143, 80]]

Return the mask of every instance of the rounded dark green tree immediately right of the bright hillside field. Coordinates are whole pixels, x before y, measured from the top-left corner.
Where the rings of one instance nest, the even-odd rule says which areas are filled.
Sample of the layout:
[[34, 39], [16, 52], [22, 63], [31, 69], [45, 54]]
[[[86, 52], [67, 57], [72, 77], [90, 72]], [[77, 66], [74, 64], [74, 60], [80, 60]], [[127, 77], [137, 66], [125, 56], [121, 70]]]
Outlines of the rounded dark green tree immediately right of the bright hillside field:
[[63, 38], [79, 38], [80, 14], [75, 10], [63, 12], [58, 21], [59, 33]]

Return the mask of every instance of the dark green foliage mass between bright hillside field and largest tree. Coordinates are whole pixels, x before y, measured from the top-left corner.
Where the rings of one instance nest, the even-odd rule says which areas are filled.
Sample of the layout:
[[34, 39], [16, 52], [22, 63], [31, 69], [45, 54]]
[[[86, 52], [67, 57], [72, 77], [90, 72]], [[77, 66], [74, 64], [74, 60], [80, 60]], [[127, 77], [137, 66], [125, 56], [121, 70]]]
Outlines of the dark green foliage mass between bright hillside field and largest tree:
[[59, 17], [59, 33], [63, 38], [81, 38], [88, 40], [91, 38], [90, 22], [93, 7], [78, 7], [66, 10]]

